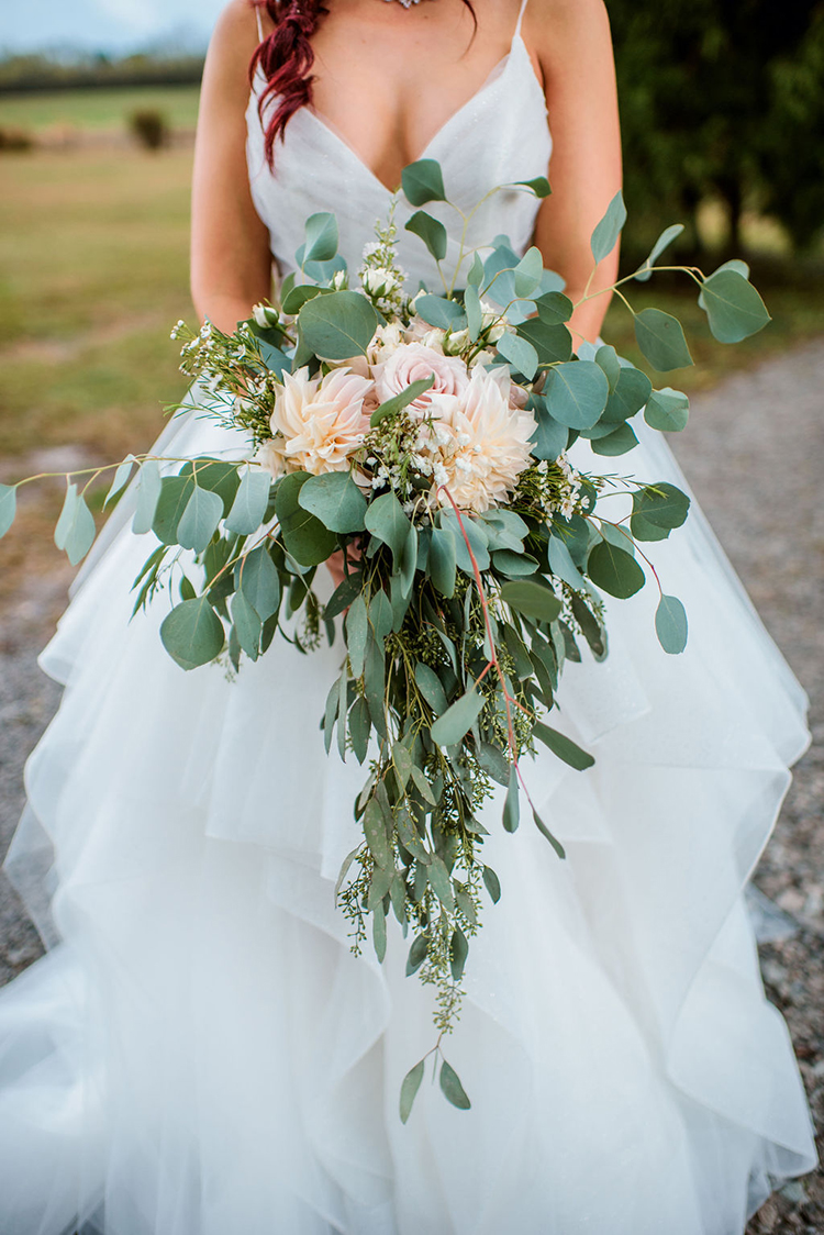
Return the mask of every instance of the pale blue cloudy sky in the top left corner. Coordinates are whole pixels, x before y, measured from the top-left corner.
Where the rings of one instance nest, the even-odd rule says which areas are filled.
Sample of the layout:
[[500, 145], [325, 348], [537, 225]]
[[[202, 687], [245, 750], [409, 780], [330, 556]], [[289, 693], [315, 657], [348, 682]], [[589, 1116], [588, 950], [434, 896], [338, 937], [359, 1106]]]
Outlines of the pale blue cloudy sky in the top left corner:
[[201, 42], [225, 0], [0, 0], [0, 51], [72, 44], [127, 51], [169, 37]]

